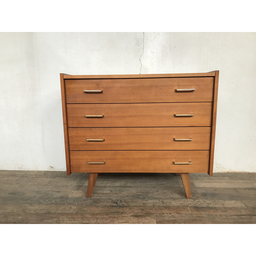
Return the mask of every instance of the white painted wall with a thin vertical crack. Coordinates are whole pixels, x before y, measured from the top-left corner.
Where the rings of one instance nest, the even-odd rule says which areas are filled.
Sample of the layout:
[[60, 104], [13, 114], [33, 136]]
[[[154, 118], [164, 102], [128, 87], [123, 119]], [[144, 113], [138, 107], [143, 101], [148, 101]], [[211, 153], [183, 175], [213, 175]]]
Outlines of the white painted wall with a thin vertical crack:
[[256, 172], [256, 33], [0, 33], [0, 60], [0, 169], [66, 170], [60, 73], [141, 68], [220, 70], [214, 172]]

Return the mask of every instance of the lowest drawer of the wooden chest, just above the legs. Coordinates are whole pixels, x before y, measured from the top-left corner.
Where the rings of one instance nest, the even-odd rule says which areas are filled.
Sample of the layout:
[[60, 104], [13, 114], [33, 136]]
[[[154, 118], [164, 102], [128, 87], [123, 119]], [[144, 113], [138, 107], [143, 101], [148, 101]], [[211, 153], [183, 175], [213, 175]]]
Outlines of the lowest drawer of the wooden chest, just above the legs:
[[209, 150], [70, 151], [71, 172], [208, 172], [208, 164]]

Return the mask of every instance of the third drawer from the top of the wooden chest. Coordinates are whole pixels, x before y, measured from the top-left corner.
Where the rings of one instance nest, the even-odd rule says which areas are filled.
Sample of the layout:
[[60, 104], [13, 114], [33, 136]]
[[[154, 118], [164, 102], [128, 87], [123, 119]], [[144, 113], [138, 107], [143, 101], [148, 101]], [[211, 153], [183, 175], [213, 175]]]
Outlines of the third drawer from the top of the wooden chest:
[[68, 128], [70, 150], [209, 150], [211, 127]]

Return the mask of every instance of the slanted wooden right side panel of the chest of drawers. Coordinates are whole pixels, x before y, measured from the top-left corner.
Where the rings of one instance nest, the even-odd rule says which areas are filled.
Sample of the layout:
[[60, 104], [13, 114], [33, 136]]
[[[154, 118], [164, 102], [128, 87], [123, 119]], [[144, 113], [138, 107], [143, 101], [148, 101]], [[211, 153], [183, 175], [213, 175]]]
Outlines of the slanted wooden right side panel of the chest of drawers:
[[212, 122], [211, 122], [212, 123], [212, 129], [211, 129], [210, 161], [209, 161], [209, 172], [208, 172], [209, 175], [212, 175], [212, 173], [213, 173], [218, 85], [219, 85], [219, 70], [216, 70], [215, 71], [215, 77], [214, 77], [214, 85], [213, 85]]

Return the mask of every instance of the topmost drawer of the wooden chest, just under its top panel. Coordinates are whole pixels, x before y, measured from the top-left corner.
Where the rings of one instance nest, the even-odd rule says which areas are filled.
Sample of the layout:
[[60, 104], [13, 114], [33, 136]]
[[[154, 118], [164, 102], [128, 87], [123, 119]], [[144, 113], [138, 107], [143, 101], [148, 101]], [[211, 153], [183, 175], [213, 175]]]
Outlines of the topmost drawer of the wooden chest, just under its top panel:
[[67, 103], [211, 102], [213, 77], [66, 79], [65, 87]]

